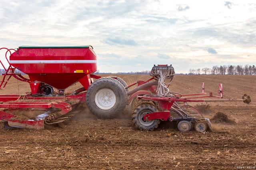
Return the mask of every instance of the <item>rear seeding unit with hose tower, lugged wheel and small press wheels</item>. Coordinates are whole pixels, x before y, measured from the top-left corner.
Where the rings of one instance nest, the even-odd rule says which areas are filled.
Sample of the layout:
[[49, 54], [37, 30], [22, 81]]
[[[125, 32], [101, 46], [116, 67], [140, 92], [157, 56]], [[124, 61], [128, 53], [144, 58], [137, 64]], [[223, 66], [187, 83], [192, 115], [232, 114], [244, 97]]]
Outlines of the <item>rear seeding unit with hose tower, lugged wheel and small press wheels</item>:
[[[223, 85], [219, 84], [218, 96], [205, 95], [204, 83], [202, 83], [202, 93], [185, 94], [171, 92], [168, 88], [174, 76], [172, 65], [154, 65], [150, 75], [158, 82], [155, 94], [139, 95], [132, 101], [132, 121], [134, 126], [140, 130], [153, 131], [158, 127], [160, 121], [176, 121], [179, 131], [190, 131], [193, 127], [198, 132], [207, 129], [212, 131], [210, 120], [206, 119], [200, 111], [189, 106], [188, 102], [225, 102], [243, 101], [250, 103], [250, 96], [244, 94], [241, 100], [222, 99]], [[166, 80], [170, 80], [166, 83]], [[195, 98], [221, 98], [221, 99], [195, 99]]]

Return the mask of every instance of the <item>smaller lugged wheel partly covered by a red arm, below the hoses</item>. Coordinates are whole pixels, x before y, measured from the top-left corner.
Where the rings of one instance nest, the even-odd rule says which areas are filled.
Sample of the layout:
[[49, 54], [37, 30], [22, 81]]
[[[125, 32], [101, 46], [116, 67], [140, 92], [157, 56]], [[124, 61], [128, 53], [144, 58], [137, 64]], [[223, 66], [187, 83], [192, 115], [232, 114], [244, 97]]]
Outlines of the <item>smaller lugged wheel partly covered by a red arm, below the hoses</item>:
[[[132, 113], [132, 123], [135, 127], [140, 129], [141, 131], [154, 131], [160, 124], [160, 119], [154, 119], [148, 123], [147, 121], [142, 120], [142, 116], [147, 113], [156, 112], [157, 108], [154, 104], [144, 103], [139, 105], [136, 109], [134, 109]], [[145, 122], [145, 123], [144, 123]]]

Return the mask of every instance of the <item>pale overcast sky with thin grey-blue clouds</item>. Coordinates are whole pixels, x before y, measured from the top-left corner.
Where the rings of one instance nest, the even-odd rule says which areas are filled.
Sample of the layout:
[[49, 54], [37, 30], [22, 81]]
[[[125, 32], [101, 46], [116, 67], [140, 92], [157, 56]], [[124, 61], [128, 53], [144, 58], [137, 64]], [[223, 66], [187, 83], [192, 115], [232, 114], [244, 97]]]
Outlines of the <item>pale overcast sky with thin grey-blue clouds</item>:
[[0, 47], [92, 45], [101, 72], [256, 64], [256, 1], [0, 0]]

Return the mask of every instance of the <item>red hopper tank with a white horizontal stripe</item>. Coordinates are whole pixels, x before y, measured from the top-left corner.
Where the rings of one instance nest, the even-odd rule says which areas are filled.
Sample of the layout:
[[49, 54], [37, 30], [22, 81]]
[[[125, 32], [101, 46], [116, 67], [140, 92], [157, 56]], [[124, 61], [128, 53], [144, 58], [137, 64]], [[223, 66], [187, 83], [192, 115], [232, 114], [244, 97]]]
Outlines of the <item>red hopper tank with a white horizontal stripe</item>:
[[[66, 89], [97, 70], [91, 48], [20, 48], [10, 55], [10, 64], [29, 75], [32, 81]], [[84, 82], [88, 88], [88, 82]]]

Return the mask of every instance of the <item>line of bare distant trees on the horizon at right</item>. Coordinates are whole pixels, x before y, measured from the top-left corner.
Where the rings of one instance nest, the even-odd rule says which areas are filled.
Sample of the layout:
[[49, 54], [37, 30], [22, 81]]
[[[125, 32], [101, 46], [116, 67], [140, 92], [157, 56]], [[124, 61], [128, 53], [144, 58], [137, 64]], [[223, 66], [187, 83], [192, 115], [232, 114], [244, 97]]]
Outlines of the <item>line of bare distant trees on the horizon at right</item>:
[[221, 74], [221, 75], [256, 75], [256, 67], [254, 65], [246, 64], [242, 65], [222, 65], [222, 66], [212, 66], [212, 68], [198, 68], [192, 69], [190, 68], [189, 73], [193, 74]]

